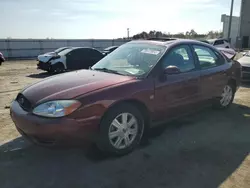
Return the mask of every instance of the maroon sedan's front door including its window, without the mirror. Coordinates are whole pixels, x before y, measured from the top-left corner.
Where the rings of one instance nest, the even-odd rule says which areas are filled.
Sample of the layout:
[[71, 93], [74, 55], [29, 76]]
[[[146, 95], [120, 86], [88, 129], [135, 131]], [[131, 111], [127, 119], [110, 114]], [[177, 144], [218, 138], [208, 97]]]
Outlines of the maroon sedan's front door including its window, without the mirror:
[[155, 119], [166, 120], [189, 113], [200, 102], [200, 71], [188, 45], [174, 47], [160, 62], [162, 72], [176, 66], [180, 73], [164, 75], [155, 81]]

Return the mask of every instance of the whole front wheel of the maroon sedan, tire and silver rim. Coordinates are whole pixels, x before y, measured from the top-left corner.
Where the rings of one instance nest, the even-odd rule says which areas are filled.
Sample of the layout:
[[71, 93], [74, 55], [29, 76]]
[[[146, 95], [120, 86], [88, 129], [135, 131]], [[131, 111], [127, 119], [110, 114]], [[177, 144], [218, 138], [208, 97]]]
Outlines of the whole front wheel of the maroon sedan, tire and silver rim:
[[[127, 123], [123, 125], [126, 119]], [[134, 106], [124, 103], [111, 108], [104, 115], [97, 146], [110, 154], [125, 155], [139, 145], [143, 132], [142, 114]]]

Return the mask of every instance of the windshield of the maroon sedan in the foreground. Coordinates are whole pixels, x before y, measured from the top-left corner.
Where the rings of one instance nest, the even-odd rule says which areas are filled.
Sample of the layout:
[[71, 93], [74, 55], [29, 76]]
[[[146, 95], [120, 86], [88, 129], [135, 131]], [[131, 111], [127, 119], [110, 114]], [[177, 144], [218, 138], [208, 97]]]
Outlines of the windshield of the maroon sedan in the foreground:
[[96, 63], [92, 69], [143, 76], [156, 65], [166, 47], [148, 43], [127, 43]]

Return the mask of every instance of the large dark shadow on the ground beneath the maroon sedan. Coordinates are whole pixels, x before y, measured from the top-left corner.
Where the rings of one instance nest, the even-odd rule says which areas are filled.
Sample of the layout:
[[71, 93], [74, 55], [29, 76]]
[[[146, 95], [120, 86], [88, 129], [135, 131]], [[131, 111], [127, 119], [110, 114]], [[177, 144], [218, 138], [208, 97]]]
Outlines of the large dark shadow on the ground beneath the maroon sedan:
[[249, 155], [249, 123], [247, 106], [204, 109], [150, 130], [147, 144], [119, 158], [20, 137], [0, 146], [0, 187], [219, 187]]

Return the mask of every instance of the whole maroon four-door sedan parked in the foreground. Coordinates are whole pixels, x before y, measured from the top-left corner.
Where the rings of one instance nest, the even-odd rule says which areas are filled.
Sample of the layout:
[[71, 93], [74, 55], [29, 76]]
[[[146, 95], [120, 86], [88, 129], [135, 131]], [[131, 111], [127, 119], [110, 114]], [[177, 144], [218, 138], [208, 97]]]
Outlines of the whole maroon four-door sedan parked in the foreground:
[[240, 77], [240, 64], [209, 44], [132, 41], [90, 70], [25, 88], [10, 111], [18, 131], [35, 143], [90, 140], [125, 154], [154, 125], [207, 104], [229, 107]]

